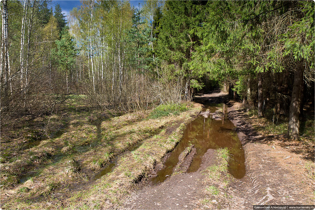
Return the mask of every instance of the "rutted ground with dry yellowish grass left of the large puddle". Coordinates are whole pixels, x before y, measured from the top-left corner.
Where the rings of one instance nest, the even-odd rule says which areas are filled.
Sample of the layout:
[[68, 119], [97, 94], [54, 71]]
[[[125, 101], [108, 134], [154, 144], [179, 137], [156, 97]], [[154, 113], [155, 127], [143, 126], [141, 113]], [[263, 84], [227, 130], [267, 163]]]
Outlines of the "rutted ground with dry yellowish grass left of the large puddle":
[[2, 127], [2, 209], [117, 207], [202, 109], [188, 103], [166, 116], [150, 115], [154, 110], [121, 115], [80, 101]]

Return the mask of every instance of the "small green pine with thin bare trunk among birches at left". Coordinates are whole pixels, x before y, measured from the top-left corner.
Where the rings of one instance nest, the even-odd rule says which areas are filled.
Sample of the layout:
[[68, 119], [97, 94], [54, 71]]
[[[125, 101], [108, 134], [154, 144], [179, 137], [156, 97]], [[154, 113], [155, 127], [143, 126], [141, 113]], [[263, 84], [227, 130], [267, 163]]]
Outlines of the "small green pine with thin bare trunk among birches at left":
[[60, 70], [66, 74], [67, 94], [69, 94], [68, 73], [75, 63], [77, 50], [75, 49], [75, 43], [72, 41], [74, 38], [70, 35], [68, 26], [64, 27], [60, 34], [60, 40], [56, 40], [57, 52], [53, 52], [53, 54], [56, 62], [59, 64]]

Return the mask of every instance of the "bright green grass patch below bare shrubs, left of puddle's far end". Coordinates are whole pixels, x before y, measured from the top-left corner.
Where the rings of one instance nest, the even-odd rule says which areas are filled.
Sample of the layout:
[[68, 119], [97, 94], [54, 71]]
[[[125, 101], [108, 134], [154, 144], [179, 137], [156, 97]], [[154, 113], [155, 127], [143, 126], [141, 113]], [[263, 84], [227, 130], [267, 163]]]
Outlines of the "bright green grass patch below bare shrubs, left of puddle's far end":
[[180, 112], [186, 111], [188, 108], [186, 104], [171, 104], [171, 105], [159, 105], [148, 116], [149, 119], [156, 119], [169, 114], [178, 115]]

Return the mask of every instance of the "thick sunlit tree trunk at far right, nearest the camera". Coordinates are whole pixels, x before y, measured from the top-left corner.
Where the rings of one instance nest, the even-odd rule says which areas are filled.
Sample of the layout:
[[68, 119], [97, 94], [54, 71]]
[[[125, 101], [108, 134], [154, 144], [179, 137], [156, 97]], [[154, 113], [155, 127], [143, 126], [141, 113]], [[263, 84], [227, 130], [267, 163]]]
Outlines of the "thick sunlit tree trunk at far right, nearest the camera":
[[300, 139], [299, 135], [299, 116], [301, 105], [301, 90], [303, 85], [303, 66], [296, 67], [294, 72], [294, 82], [292, 88], [292, 97], [289, 112], [288, 137], [290, 139]]

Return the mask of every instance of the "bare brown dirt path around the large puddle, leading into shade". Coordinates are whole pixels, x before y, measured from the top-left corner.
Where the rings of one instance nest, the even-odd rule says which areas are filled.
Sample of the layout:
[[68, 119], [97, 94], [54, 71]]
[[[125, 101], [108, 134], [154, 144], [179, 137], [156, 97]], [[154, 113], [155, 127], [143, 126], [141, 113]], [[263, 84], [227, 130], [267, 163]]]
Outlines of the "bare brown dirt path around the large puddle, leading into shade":
[[[159, 184], [152, 184], [150, 179], [136, 184], [123, 208], [252, 209], [257, 204], [314, 204], [315, 183], [305, 167], [306, 161], [314, 161], [312, 148], [286, 141], [283, 136], [257, 132], [255, 119], [244, 114], [238, 103], [228, 102], [228, 96], [218, 90], [195, 99], [203, 104], [226, 102], [230, 106], [228, 116], [236, 126], [245, 152], [245, 176], [231, 179], [229, 174], [222, 174], [219, 180], [209, 181], [203, 170], [220, 161], [215, 150], [209, 149], [196, 172], [172, 175]], [[305, 154], [306, 151], [309, 154]], [[154, 175], [153, 171], [150, 176]], [[226, 180], [230, 181], [224, 186]], [[207, 188], [211, 185], [216, 186], [218, 192], [209, 193]]]

